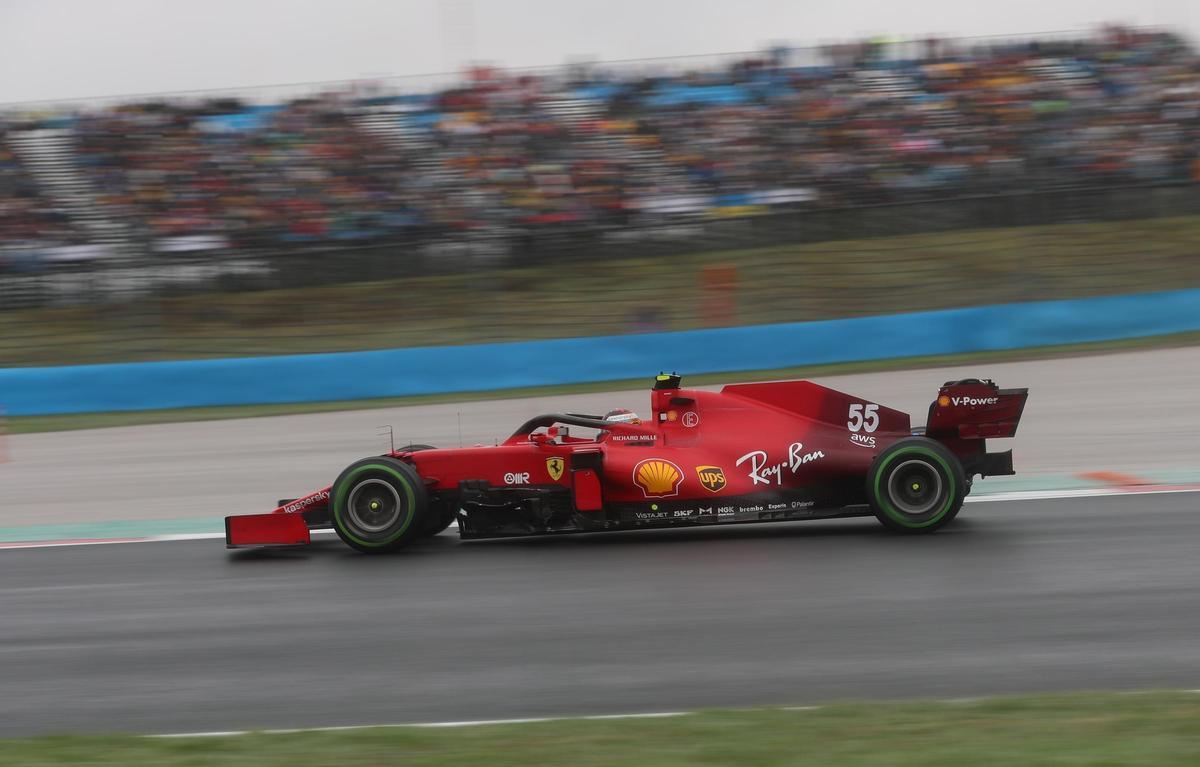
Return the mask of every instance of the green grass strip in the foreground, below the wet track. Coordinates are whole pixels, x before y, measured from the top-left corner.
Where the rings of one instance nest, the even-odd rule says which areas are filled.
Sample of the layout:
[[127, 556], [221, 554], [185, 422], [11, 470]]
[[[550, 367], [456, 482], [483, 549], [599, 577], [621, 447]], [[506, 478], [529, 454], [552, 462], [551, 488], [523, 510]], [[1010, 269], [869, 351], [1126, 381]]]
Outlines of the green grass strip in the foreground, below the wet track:
[[1194, 767], [1200, 694], [1076, 694], [973, 702], [842, 703], [666, 719], [210, 738], [0, 741], [0, 763], [42, 767], [556, 765], [756, 767]]

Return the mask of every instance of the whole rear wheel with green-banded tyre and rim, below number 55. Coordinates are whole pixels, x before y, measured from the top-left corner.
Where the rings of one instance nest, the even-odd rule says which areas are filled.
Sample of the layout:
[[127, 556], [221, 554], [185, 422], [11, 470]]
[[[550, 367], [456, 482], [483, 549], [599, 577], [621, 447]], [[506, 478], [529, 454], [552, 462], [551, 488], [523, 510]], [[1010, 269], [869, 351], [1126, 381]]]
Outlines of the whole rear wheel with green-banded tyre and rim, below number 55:
[[884, 527], [901, 533], [931, 533], [962, 508], [967, 480], [962, 465], [946, 445], [908, 437], [881, 453], [866, 474], [866, 498]]

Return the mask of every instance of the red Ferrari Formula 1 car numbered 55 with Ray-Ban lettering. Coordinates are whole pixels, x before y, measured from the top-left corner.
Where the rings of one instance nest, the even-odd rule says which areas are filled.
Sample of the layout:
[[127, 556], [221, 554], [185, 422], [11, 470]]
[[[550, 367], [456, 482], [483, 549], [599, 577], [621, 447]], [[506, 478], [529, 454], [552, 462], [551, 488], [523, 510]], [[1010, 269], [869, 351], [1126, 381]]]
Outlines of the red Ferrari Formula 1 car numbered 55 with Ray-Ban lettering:
[[1012, 450], [984, 441], [1016, 433], [1028, 394], [950, 382], [914, 430], [905, 413], [808, 380], [679, 383], [658, 377], [646, 421], [539, 415], [499, 445], [362, 459], [270, 514], [226, 517], [226, 543], [307, 544], [311, 528], [332, 527], [385, 552], [455, 521], [469, 539], [871, 514], [928, 533], [954, 519], [976, 475], [1013, 473]]

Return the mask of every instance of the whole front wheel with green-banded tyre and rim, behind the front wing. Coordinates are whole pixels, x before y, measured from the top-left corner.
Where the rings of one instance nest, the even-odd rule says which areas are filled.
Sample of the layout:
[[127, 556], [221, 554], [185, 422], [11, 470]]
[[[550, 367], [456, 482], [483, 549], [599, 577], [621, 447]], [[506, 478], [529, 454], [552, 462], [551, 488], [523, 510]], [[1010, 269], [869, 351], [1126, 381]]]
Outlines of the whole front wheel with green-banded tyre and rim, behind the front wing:
[[334, 529], [367, 553], [395, 551], [421, 537], [430, 498], [416, 471], [386, 456], [346, 467], [329, 492]]

